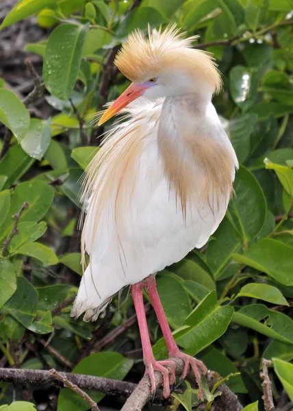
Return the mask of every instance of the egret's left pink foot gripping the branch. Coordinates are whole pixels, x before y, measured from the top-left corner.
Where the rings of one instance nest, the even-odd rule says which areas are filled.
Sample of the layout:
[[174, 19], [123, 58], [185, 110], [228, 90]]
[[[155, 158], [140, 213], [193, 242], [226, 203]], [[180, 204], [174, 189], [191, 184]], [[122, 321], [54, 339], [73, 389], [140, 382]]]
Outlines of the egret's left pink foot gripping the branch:
[[[170, 396], [170, 385], [175, 384], [175, 364], [173, 361], [144, 361], [146, 366], [146, 374], [149, 375], [151, 381], [151, 393], [155, 395], [155, 371], [159, 371], [163, 377], [163, 395], [165, 398]], [[169, 367], [170, 370], [165, 367]]]

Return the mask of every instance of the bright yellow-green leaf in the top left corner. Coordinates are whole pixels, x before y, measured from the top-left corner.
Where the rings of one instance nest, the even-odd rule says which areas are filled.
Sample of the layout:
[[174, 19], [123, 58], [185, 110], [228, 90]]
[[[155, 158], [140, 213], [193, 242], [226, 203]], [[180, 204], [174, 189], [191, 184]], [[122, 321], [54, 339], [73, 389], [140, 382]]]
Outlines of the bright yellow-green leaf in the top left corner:
[[54, 5], [58, 0], [21, 0], [18, 1], [10, 13], [4, 18], [3, 23], [1, 24], [0, 29], [4, 29], [16, 21], [23, 20], [36, 14], [45, 7]]

